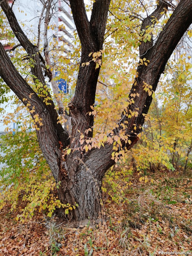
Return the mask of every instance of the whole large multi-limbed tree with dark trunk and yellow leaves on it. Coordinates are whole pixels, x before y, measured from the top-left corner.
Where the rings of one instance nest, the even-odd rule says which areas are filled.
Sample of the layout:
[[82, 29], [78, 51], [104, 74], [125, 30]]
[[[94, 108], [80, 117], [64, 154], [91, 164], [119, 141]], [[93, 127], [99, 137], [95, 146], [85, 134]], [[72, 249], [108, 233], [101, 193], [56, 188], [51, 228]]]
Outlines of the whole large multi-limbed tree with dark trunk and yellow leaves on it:
[[[99, 143], [93, 142], [94, 102], [102, 65], [103, 41], [110, 0], [94, 1], [90, 21], [83, 0], [69, 2], [82, 48], [75, 95], [68, 104], [69, 114], [72, 117], [71, 136], [68, 136], [58, 122], [58, 113], [49, 90], [46, 89], [42, 95], [39, 89], [46, 88], [46, 84], [38, 46], [32, 44], [25, 36], [12, 8], [4, 0], [0, 1], [0, 5], [12, 32], [33, 61], [31, 74], [34, 77], [36, 92], [14, 67], [2, 44], [0, 44], [0, 76], [28, 108], [36, 123], [40, 148], [56, 183], [60, 184], [58, 186], [60, 201], [64, 204], [78, 204], [78, 207], [68, 213], [68, 219], [97, 219], [100, 212], [102, 178], [108, 168], [121, 158], [123, 151], [128, 151], [139, 140], [145, 115], [148, 113], [159, 78], [172, 52], [192, 23], [190, 15], [192, 2], [181, 0], [175, 7], [167, 1], [157, 1], [156, 9], [147, 15], [147, 18], [142, 19], [142, 24], [139, 23], [140, 61], [135, 80], [116, 127]], [[137, 1], [135, 3], [137, 4]], [[170, 5], [174, 7], [174, 11], [156, 40], [153, 40], [153, 27]], [[110, 7], [110, 12], [112, 10], [113, 5]], [[50, 73], [50, 70], [46, 71]]]

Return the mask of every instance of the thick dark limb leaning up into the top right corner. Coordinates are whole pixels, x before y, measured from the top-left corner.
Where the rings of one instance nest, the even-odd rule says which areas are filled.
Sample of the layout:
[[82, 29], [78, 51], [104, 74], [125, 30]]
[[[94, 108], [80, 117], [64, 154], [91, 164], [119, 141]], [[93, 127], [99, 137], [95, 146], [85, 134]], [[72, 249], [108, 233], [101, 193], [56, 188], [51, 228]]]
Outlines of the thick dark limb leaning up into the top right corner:
[[[148, 66], [138, 66], [138, 77], [136, 77], [135, 83], [132, 86], [129, 99], [133, 99], [131, 95], [134, 93], [139, 93], [139, 97], [136, 96], [134, 98], [135, 103], [130, 106], [129, 110], [126, 110], [127, 114], [123, 115], [123, 121], [128, 121], [127, 131], [132, 131], [133, 124], [136, 124], [137, 130], [135, 133], [138, 134], [140, 132], [140, 127], [145, 120], [144, 115], [148, 113], [152, 101], [152, 95], [149, 96], [148, 92], [143, 91], [144, 82], [151, 85], [154, 92], [156, 91], [159, 78], [164, 71], [167, 61], [185, 31], [192, 23], [191, 12], [192, 2], [190, 0], [181, 0], [165, 25], [164, 30], [158, 36], [156, 44], [145, 54], [145, 58], [150, 61]], [[133, 116], [131, 119], [126, 117], [130, 113], [130, 110], [138, 111], [137, 109], [139, 109], [139, 115], [137, 117]], [[131, 133], [131, 138], [134, 140], [134, 138], [137, 138], [137, 135]]]

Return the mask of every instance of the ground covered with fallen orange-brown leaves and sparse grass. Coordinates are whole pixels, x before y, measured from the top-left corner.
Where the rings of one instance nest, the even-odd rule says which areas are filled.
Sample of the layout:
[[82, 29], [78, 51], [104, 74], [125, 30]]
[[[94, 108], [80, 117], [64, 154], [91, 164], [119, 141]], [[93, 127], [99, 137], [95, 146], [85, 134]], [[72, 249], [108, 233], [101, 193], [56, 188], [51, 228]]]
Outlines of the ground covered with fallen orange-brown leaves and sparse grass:
[[[173, 172], [135, 174], [117, 204], [106, 183], [101, 222], [69, 227], [41, 213], [26, 223], [16, 221], [17, 211], [0, 213], [0, 255], [159, 255], [192, 250], [192, 177]], [[153, 182], [151, 182], [151, 180]], [[123, 185], [123, 184], [122, 184]], [[21, 202], [22, 204], [22, 202]]]

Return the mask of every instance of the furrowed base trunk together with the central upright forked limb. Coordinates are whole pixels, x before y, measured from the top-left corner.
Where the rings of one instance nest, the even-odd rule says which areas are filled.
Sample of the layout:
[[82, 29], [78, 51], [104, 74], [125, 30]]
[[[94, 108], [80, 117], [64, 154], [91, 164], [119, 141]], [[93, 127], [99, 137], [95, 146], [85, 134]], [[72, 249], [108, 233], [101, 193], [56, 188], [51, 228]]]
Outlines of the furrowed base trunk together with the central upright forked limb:
[[[79, 141], [81, 134], [92, 137], [94, 116], [87, 115], [94, 106], [97, 80], [100, 67], [92, 61], [91, 52], [99, 52], [103, 48], [103, 38], [108, 16], [110, 0], [98, 0], [93, 4], [90, 22], [87, 19], [84, 1], [70, 1], [77, 32], [81, 40], [82, 56], [79, 68], [76, 92], [69, 103], [72, 117], [72, 133], [70, 148], [73, 153], [65, 155], [65, 168], [62, 170], [59, 198], [62, 203], [78, 204], [68, 214], [69, 219], [97, 219], [100, 212], [101, 182], [108, 165], [100, 165], [100, 155], [93, 157], [81, 151]], [[100, 57], [101, 59], [101, 57]], [[89, 62], [90, 65], [82, 66]], [[86, 130], [90, 129], [88, 132]], [[111, 152], [107, 161], [111, 162]], [[110, 166], [112, 163], [110, 163]]]

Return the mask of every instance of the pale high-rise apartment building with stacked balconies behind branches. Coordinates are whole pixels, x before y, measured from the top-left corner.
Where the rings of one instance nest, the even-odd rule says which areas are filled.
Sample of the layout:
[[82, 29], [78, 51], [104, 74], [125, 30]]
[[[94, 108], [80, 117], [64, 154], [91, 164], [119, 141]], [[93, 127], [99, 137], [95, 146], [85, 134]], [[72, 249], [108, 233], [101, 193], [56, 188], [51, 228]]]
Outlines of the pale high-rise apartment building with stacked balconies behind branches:
[[[14, 4], [13, 4], [14, 3]], [[10, 6], [19, 21], [22, 29], [25, 31], [29, 39], [37, 38], [38, 35], [38, 24], [41, 17], [41, 12], [43, 9], [42, 0], [9, 0]], [[67, 0], [55, 0], [52, 4], [52, 18], [50, 21], [51, 28], [48, 29], [47, 35], [48, 39], [58, 41], [58, 45], [62, 44], [62, 41], [68, 44], [68, 46], [73, 45], [74, 41], [74, 30], [76, 29], [73, 16], [71, 14], [71, 8], [69, 6], [69, 1]], [[52, 29], [52, 27], [54, 29]], [[43, 32], [43, 19], [41, 22], [41, 32]], [[43, 34], [43, 33], [42, 33]], [[2, 41], [5, 49], [9, 48], [6, 39]]]

